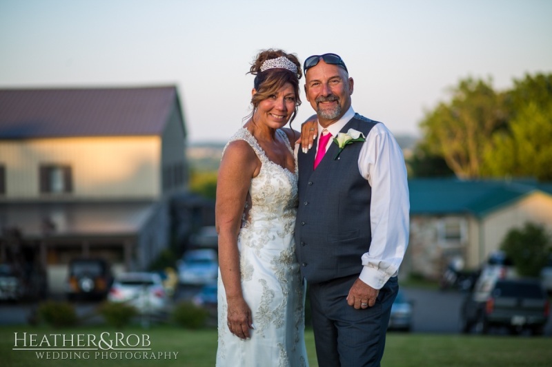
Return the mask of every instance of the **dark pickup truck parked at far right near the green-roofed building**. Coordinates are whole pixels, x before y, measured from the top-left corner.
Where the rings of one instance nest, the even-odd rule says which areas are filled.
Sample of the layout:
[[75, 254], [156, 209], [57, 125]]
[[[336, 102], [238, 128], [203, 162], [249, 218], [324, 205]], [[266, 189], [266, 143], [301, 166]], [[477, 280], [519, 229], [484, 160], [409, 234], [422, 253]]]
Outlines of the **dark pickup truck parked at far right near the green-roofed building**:
[[502, 326], [513, 334], [530, 330], [533, 335], [542, 335], [549, 313], [549, 299], [540, 280], [496, 280], [486, 292], [475, 289], [466, 297], [461, 331], [486, 334]]

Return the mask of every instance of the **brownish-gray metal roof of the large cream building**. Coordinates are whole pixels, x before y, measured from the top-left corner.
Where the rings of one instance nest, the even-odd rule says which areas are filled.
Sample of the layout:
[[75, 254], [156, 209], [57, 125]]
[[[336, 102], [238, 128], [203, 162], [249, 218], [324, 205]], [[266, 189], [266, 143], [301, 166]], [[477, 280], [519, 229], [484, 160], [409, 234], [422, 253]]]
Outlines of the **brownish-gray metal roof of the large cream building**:
[[175, 103], [174, 86], [0, 90], [0, 138], [160, 135]]

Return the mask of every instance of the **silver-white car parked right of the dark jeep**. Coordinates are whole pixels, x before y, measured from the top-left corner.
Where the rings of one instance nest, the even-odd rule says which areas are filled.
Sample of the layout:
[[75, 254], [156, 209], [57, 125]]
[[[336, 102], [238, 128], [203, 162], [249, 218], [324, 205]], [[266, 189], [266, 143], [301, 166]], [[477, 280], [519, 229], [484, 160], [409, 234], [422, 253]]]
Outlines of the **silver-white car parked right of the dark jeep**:
[[157, 273], [121, 273], [109, 291], [110, 302], [127, 302], [141, 314], [159, 313], [168, 309], [168, 295]]

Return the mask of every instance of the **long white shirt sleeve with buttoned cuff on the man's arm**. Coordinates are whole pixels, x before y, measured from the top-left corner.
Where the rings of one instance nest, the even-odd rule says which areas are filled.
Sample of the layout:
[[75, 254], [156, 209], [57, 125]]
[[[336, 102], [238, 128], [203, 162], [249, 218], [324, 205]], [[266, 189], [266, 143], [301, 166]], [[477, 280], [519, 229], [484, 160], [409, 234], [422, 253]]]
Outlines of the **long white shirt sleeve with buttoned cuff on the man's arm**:
[[372, 188], [372, 242], [362, 255], [364, 267], [359, 278], [381, 289], [390, 277], [398, 274], [408, 246], [408, 180], [402, 150], [385, 125], [375, 125], [363, 144], [358, 165], [360, 174]]

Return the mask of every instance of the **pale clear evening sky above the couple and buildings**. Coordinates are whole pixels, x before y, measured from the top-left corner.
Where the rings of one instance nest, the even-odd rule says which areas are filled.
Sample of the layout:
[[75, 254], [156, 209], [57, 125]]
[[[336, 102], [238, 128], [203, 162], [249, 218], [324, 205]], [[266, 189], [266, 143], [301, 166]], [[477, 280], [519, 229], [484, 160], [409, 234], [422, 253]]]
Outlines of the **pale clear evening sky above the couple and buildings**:
[[[551, 19], [549, 0], [0, 0], [0, 88], [175, 85], [188, 140], [224, 142], [260, 50], [334, 52], [355, 112], [419, 136], [463, 78], [552, 72]], [[295, 129], [314, 113], [299, 97]]]

